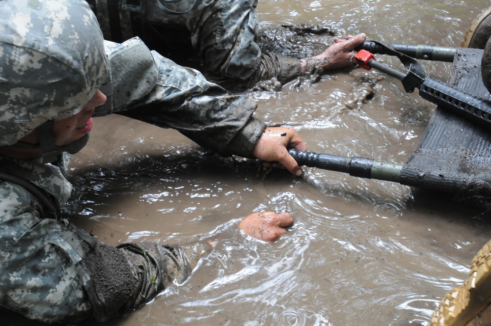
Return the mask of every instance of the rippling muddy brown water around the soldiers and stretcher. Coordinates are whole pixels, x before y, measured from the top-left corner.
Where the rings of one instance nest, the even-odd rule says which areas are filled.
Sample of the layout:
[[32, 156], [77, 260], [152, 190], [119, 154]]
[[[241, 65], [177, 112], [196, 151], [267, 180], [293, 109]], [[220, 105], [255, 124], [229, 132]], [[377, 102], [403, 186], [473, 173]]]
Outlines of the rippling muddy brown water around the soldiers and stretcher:
[[[311, 54], [333, 36], [308, 35], [305, 45], [280, 26], [453, 47], [487, 6], [260, 0], [258, 10], [265, 47]], [[422, 63], [430, 77], [449, 78], [449, 64]], [[407, 160], [435, 108], [399, 81], [361, 69], [251, 94], [257, 117], [294, 126], [309, 150], [394, 163]], [[95, 119], [70, 173], [77, 188], [65, 208], [70, 221], [111, 245], [220, 239], [184, 284], [107, 325], [429, 325], [491, 238], [490, 213], [447, 194], [315, 168], [301, 178], [266, 174], [255, 163], [209, 155], [175, 131], [119, 116]], [[242, 217], [266, 210], [295, 219], [278, 242], [237, 231]], [[8, 325], [33, 324], [10, 316]]]

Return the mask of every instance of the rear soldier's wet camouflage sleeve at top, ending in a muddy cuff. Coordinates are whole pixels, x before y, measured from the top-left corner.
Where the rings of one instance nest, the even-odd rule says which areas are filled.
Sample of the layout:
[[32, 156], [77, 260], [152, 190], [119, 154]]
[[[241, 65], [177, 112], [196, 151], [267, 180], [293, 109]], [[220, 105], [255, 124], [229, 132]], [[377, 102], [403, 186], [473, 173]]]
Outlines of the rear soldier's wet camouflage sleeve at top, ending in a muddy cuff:
[[[146, 5], [149, 24], [186, 26], [194, 50], [204, 60], [206, 78], [227, 89], [250, 88], [273, 77], [285, 83], [300, 75], [300, 59], [262, 53], [257, 43], [257, 0], [236, 5], [228, 0], [198, 0], [190, 12], [181, 15], [165, 13], [155, 0], [147, 0]], [[189, 1], [166, 6], [183, 11]]]

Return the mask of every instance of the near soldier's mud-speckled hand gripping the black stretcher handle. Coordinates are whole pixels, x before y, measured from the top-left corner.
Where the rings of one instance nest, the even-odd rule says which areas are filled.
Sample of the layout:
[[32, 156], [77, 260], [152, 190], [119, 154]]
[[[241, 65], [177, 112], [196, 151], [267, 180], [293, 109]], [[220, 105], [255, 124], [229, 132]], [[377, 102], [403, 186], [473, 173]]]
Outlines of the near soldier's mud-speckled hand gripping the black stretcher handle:
[[293, 128], [271, 127], [266, 128], [256, 146], [252, 149], [252, 155], [265, 161], [264, 166], [276, 166], [286, 168], [296, 176], [302, 174], [299, 164], [288, 153], [289, 148], [306, 151], [307, 145]]

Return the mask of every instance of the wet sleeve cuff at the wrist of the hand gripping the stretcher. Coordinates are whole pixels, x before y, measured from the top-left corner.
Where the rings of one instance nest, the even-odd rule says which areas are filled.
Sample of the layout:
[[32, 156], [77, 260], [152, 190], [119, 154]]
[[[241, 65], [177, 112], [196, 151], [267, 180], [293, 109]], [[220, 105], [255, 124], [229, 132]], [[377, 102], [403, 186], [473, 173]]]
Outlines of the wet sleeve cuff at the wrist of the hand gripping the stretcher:
[[266, 129], [266, 124], [254, 117], [247, 121], [246, 125], [232, 139], [227, 146], [229, 154], [250, 158], [251, 152], [257, 140]]

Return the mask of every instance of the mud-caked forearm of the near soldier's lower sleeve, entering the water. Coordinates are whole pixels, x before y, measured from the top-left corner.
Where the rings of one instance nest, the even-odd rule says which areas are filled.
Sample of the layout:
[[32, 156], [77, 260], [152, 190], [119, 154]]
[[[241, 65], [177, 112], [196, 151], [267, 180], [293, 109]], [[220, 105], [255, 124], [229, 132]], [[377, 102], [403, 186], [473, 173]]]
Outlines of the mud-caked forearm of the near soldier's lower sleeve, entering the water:
[[97, 241], [82, 260], [90, 277], [91, 286], [86, 290], [93, 317], [106, 321], [150, 301], [174, 281], [184, 282], [210, 251], [207, 243], [162, 246], [142, 242], [112, 247]]

